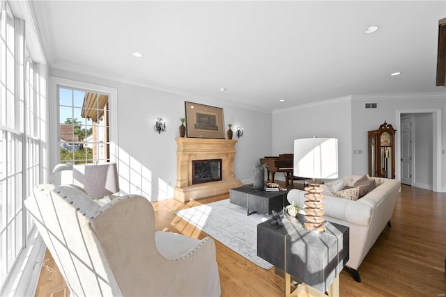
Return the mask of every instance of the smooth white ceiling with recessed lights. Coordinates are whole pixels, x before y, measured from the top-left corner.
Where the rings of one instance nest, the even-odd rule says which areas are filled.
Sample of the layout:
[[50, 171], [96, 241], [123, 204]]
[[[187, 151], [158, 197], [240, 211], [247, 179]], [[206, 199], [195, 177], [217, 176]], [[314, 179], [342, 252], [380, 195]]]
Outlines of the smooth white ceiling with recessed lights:
[[[31, 1], [31, 7], [53, 68], [263, 111], [349, 95], [446, 98], [446, 88], [435, 86], [446, 1]], [[364, 34], [372, 25], [378, 31]]]

